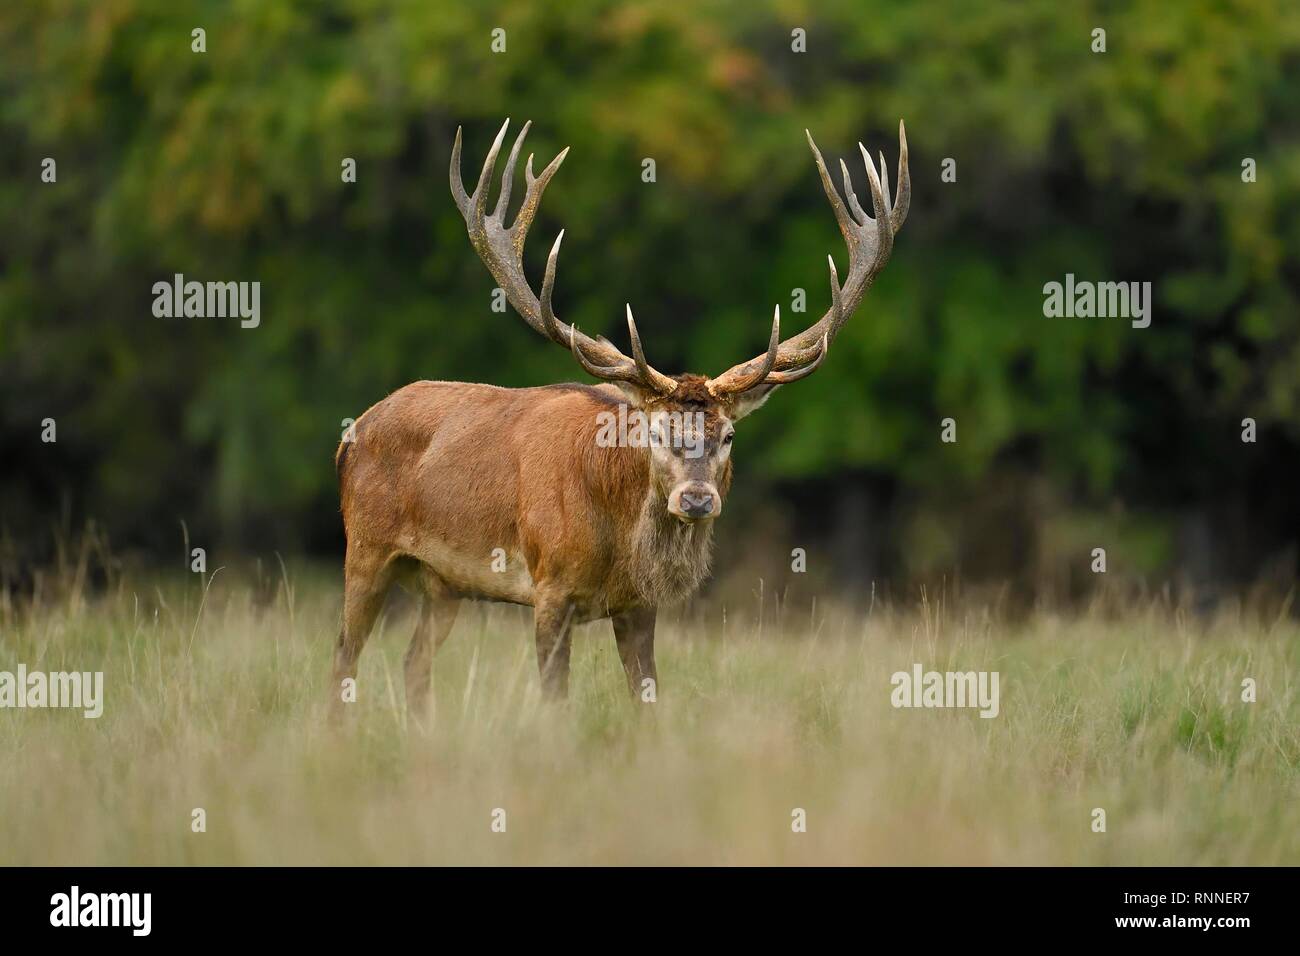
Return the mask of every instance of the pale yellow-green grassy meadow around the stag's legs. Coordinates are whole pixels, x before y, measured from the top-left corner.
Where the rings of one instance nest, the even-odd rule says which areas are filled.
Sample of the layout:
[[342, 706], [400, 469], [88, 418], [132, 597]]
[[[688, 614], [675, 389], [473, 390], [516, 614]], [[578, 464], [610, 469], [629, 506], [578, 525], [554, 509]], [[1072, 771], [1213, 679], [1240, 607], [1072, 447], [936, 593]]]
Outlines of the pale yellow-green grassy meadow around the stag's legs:
[[[105, 674], [99, 719], [0, 710], [0, 862], [1300, 864], [1286, 617], [702, 601], [660, 617], [660, 698], [638, 709], [607, 623], [577, 630], [556, 706], [528, 613], [465, 605], [416, 726], [398, 600], [332, 727], [333, 576], [205, 584], [0, 607], [0, 670]], [[998, 671], [1000, 715], [892, 708], [915, 662]]]

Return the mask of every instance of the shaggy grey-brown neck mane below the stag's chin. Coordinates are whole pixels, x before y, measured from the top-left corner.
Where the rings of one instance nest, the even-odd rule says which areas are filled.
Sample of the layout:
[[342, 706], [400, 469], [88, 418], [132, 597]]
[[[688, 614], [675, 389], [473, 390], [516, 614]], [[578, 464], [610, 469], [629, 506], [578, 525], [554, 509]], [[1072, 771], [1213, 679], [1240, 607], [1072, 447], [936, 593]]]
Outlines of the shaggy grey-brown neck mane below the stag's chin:
[[712, 549], [714, 523], [682, 523], [651, 486], [637, 518], [628, 568], [641, 600], [658, 606], [690, 597], [708, 576]]

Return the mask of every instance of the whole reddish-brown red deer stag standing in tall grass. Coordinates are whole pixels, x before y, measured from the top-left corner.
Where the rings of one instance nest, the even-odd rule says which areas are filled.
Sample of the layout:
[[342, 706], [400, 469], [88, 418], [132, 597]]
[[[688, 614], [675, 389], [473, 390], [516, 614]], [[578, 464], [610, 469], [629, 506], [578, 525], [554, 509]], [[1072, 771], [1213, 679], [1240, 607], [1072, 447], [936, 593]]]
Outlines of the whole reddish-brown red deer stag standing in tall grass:
[[[907, 216], [911, 185], [901, 122], [893, 202], [884, 155], [878, 172], [859, 143], [872, 216], [854, 195], [841, 160], [845, 204], [809, 135], [849, 247], [842, 286], [828, 256], [829, 310], [783, 342], [777, 308], [762, 355], [715, 378], [667, 376], [646, 362], [630, 307], [630, 358], [555, 316], [551, 291], [563, 232], [546, 260], [541, 295], [533, 293], [524, 276], [524, 239], [568, 150], [541, 176], [533, 176], [528, 157], [526, 193], [507, 226], [515, 163], [529, 124], [510, 151], [493, 212], [485, 211], [508, 125], [507, 120], [497, 134], [471, 195], [460, 179], [456, 130], [451, 193], [469, 242], [524, 321], [572, 351], [604, 384], [503, 389], [420, 381], [358, 419], [352, 441], [341, 444], [335, 458], [347, 533], [335, 700], [341, 682], [356, 675], [358, 657], [394, 581], [422, 592], [406, 654], [407, 706], [415, 713], [429, 689], [432, 657], [467, 597], [534, 609], [537, 663], [543, 692], [551, 697], [568, 689], [571, 627], [610, 618], [629, 689], [653, 698], [646, 691], [647, 682], [656, 682], [655, 611], [688, 597], [708, 574], [712, 523], [732, 479], [733, 423], [779, 385], [816, 371], [888, 261], [894, 233]], [[620, 421], [630, 416], [645, 425], [641, 437], [649, 441], [602, 441], [602, 428], [619, 415]]]

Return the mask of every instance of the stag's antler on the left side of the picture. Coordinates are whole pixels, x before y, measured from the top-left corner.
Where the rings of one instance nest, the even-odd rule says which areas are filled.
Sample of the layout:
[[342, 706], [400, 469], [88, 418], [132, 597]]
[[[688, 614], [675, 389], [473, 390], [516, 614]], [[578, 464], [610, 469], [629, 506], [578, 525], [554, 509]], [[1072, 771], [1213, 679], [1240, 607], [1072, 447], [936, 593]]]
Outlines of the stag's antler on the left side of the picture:
[[490, 179], [497, 166], [497, 153], [500, 143], [506, 138], [506, 129], [510, 120], [500, 127], [497, 139], [488, 152], [482, 172], [478, 174], [478, 185], [473, 195], [465, 194], [465, 186], [460, 179], [460, 129], [456, 129], [456, 142], [451, 147], [451, 195], [460, 208], [460, 215], [465, 217], [465, 226], [469, 230], [469, 242], [473, 245], [478, 258], [488, 265], [488, 271], [506, 290], [506, 298], [515, 307], [524, 321], [546, 336], [559, 346], [571, 349], [573, 356], [582, 368], [598, 378], [608, 381], [627, 381], [640, 385], [660, 395], [671, 394], [677, 382], [656, 372], [646, 362], [641, 349], [641, 337], [637, 334], [637, 324], [632, 319], [632, 307], [628, 306], [628, 334], [632, 337], [632, 358], [620, 352], [604, 338], [590, 338], [578, 332], [572, 325], [562, 323], [555, 317], [551, 308], [551, 291], [555, 287], [555, 260], [560, 252], [560, 241], [564, 230], [555, 237], [551, 254], [546, 259], [546, 274], [542, 277], [542, 295], [538, 299], [528, 285], [524, 276], [524, 239], [528, 237], [528, 228], [533, 224], [537, 207], [542, 200], [542, 193], [550, 183], [555, 170], [560, 168], [568, 147], [551, 160], [551, 164], [542, 170], [538, 177], [533, 176], [533, 156], [529, 153], [524, 166], [524, 178], [528, 182], [528, 191], [524, 194], [524, 204], [515, 217], [515, 225], [506, 226], [506, 213], [510, 208], [510, 190], [515, 178], [515, 163], [519, 160], [519, 151], [524, 146], [524, 137], [528, 135], [530, 122], [525, 122], [511, 147], [510, 159], [506, 160], [506, 170], [500, 177], [500, 195], [491, 215], [484, 215], [488, 206], [488, 191], [491, 189]]

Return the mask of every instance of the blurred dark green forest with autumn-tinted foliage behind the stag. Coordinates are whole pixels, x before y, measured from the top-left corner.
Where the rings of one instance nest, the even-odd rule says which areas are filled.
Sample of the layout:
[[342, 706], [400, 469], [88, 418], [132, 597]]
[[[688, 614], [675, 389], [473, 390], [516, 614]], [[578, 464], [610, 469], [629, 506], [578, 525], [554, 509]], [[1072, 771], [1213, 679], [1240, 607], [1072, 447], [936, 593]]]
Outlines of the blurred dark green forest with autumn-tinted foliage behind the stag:
[[[776, 587], [802, 546], [846, 594], [1070, 598], [1102, 546], [1144, 588], [1295, 584], [1294, 0], [5, 4], [3, 583], [90, 522], [144, 563], [186, 564], [182, 522], [209, 564], [333, 559], [343, 419], [417, 378], [588, 381], [490, 310], [451, 202], [456, 126], [472, 182], [507, 116], [543, 164], [572, 146], [526, 254], [540, 284], [567, 229], [558, 312], [625, 347], [630, 302], [656, 367], [712, 373], [844, 268], [803, 129], [867, 196], [857, 140], [893, 169], [907, 122], [893, 260], [741, 427], [720, 572]], [[260, 326], [155, 317], [177, 272], [260, 281]], [[1044, 317], [1066, 273], [1152, 282], [1150, 326]]]

